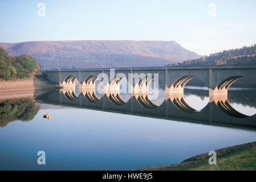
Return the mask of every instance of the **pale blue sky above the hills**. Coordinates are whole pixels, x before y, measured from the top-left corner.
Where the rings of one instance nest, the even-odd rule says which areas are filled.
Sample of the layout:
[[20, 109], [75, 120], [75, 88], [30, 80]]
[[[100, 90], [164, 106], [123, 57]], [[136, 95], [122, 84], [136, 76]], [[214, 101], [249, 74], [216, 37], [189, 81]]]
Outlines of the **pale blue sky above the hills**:
[[[45, 17], [38, 16], [41, 2]], [[1, 0], [0, 42], [176, 40], [206, 55], [256, 43], [255, 8], [255, 0]]]

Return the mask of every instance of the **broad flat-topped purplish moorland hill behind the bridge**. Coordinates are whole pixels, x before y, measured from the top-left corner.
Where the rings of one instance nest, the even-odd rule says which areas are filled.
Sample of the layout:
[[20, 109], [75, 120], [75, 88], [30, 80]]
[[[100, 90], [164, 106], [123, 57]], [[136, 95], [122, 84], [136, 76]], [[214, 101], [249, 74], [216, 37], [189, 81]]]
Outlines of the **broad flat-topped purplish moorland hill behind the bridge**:
[[11, 56], [31, 55], [40, 68], [157, 67], [200, 56], [176, 42], [80, 40], [0, 43]]

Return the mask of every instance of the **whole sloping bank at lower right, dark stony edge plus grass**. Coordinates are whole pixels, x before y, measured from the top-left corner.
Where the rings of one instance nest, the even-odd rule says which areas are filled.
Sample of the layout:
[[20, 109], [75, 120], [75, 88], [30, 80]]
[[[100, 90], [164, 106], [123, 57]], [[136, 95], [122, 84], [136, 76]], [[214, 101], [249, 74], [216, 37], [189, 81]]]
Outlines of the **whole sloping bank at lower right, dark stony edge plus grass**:
[[208, 153], [193, 156], [181, 163], [152, 166], [139, 171], [185, 171], [185, 170], [256, 170], [256, 142], [215, 150], [217, 164], [208, 163]]

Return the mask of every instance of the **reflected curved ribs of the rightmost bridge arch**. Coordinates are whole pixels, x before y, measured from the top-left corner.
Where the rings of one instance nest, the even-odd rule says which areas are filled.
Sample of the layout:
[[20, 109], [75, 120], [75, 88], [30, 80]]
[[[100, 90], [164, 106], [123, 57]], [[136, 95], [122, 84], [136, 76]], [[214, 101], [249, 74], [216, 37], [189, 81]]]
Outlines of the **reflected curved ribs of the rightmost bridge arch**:
[[239, 113], [237, 110], [235, 110], [229, 103], [229, 101], [227, 100], [220, 100], [217, 102], [217, 105], [223, 110], [225, 111], [225, 113], [236, 117], [236, 118], [247, 118], [249, 117], [248, 115]]

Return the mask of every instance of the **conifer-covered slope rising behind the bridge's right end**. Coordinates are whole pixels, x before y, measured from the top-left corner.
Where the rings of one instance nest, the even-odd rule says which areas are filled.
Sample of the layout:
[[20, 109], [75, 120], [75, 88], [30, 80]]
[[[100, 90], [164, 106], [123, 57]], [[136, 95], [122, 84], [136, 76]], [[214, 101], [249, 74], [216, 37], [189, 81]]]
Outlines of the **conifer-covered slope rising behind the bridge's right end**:
[[201, 66], [201, 65], [245, 65], [256, 64], [256, 44], [250, 47], [230, 49], [202, 56], [200, 59], [187, 60], [182, 63], [169, 64], [170, 67], [177, 66]]

